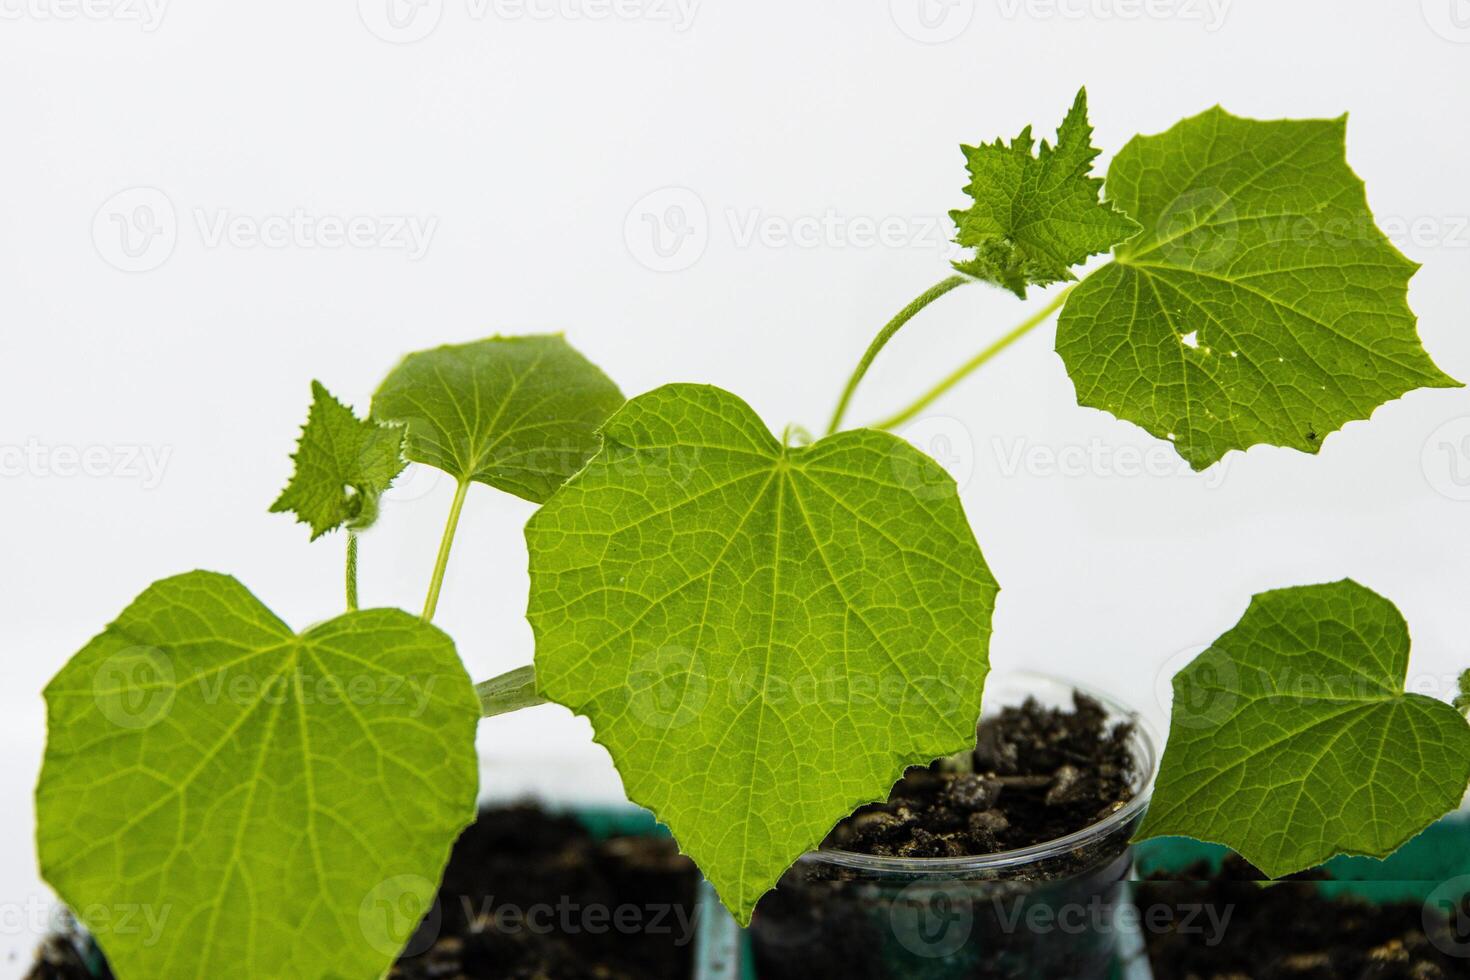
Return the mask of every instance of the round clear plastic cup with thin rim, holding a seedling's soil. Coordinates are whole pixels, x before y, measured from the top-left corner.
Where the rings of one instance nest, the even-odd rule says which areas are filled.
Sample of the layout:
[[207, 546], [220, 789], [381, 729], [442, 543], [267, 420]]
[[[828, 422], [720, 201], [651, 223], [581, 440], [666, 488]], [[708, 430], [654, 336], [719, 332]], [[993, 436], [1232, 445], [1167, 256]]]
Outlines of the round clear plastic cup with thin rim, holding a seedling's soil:
[[751, 924], [760, 980], [1107, 977], [1132, 837], [1152, 783], [1155, 743], [1138, 713], [1054, 677], [992, 674], [985, 716], [1028, 696], [1070, 707], [1080, 691], [1133, 723], [1135, 796], [1076, 833], [964, 858], [889, 858], [822, 849], [801, 858]]

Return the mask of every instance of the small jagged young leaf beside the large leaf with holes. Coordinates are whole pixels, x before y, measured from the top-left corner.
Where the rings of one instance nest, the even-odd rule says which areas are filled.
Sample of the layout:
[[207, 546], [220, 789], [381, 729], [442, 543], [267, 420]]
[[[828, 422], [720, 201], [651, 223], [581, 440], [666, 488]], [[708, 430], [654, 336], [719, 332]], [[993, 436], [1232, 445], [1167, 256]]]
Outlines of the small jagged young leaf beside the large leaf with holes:
[[1072, 266], [1138, 234], [1126, 215], [1098, 201], [1101, 178], [1091, 176], [1098, 150], [1088, 122], [1088, 91], [1078, 93], [1057, 129], [1032, 156], [1030, 126], [1004, 141], [960, 147], [970, 170], [969, 209], [950, 212], [956, 242], [975, 257], [960, 272], [995, 282], [1026, 298], [1028, 285], [1073, 279]]

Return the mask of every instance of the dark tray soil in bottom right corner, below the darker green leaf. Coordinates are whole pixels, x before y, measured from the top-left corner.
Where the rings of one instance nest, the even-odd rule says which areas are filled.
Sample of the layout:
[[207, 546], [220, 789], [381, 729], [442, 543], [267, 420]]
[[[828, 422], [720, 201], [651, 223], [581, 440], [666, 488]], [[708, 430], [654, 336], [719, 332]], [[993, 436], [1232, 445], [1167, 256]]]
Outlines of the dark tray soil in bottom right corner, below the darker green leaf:
[[[1430, 909], [1426, 920], [1417, 902], [1326, 898], [1310, 883], [1324, 877], [1261, 887], [1266, 876], [1235, 855], [1216, 873], [1201, 862], [1152, 876], [1135, 901], [1155, 980], [1470, 977], [1463, 955], [1470, 936], [1455, 934], [1448, 917]], [[1470, 918], [1470, 904], [1460, 915]]]

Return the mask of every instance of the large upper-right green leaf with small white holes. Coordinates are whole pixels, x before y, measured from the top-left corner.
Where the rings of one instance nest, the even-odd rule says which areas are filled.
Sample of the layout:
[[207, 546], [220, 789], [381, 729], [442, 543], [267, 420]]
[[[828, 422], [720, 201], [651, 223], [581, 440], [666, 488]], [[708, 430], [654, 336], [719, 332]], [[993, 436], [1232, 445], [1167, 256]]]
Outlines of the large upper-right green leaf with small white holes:
[[1448, 388], [1407, 303], [1417, 266], [1373, 223], [1345, 119], [1211, 109], [1113, 160], [1144, 231], [1067, 298], [1057, 351], [1083, 406], [1202, 469], [1266, 442], [1316, 453], [1414, 388]]

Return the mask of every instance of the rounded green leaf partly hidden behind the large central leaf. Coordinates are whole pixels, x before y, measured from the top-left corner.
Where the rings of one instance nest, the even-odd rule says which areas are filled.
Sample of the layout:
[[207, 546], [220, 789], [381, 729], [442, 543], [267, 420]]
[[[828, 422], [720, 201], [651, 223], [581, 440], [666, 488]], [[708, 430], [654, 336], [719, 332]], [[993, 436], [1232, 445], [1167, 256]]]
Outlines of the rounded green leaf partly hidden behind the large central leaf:
[[407, 425], [410, 460], [539, 504], [597, 451], [620, 404], [560, 335], [492, 336], [409, 354], [372, 414]]

